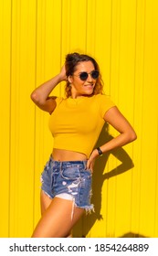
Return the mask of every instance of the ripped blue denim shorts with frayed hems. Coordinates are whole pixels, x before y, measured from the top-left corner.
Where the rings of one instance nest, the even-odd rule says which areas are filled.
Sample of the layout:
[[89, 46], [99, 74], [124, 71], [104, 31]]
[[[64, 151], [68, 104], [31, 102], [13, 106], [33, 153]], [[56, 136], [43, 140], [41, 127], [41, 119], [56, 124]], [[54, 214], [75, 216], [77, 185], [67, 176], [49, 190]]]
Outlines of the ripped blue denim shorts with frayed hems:
[[90, 204], [92, 175], [87, 161], [54, 161], [50, 156], [41, 174], [41, 189], [48, 197], [70, 199], [78, 208], [93, 210]]

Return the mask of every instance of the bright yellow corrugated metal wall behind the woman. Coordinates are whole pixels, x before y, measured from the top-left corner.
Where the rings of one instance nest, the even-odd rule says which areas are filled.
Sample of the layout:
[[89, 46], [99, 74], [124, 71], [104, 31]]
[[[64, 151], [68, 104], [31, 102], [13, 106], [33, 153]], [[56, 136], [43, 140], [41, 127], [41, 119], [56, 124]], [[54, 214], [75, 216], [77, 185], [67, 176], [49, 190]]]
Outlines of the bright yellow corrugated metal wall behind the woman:
[[[0, 237], [30, 237], [39, 219], [39, 176], [53, 140], [30, 93], [72, 51], [98, 60], [104, 91], [138, 135], [97, 161], [96, 213], [74, 233], [158, 237], [157, 13], [157, 0], [0, 0]], [[63, 92], [61, 84], [54, 94]], [[99, 144], [116, 135], [103, 132]]]

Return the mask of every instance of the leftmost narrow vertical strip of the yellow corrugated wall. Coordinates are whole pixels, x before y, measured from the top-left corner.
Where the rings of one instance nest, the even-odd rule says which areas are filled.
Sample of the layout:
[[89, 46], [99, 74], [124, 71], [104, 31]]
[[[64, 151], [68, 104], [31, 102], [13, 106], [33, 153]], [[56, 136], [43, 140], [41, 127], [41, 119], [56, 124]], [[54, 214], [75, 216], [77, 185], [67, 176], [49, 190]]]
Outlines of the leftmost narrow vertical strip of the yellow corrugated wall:
[[[10, 33], [11, 6], [0, 2], [0, 143], [1, 143], [1, 218], [0, 235], [7, 237], [9, 233], [9, 155], [10, 155]], [[4, 95], [3, 95], [4, 93]], [[2, 208], [3, 207], [3, 208]]]

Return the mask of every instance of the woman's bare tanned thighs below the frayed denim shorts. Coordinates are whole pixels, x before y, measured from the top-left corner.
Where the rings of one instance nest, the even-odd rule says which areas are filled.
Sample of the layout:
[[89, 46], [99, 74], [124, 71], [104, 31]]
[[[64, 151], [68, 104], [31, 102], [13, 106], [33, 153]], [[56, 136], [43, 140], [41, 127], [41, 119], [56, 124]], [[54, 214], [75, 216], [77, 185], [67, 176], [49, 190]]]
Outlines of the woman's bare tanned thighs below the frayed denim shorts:
[[80, 219], [83, 213], [84, 209], [74, 207], [74, 203], [71, 200], [58, 197], [50, 199], [48, 197], [48, 199], [43, 202], [43, 214], [41, 219], [37, 223], [37, 228], [34, 230], [32, 237], [68, 237], [70, 230], [72, 229], [74, 224]]

